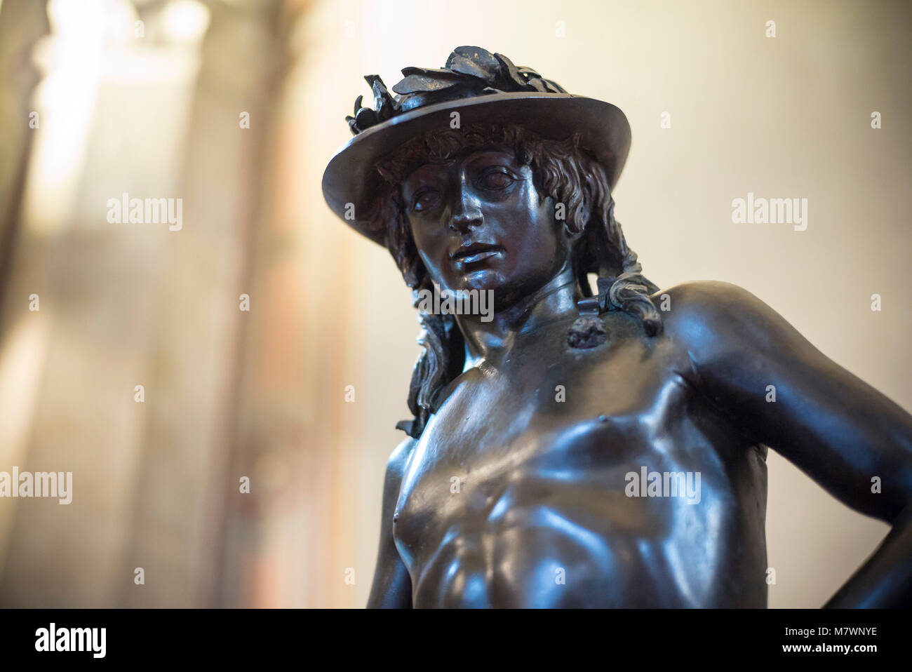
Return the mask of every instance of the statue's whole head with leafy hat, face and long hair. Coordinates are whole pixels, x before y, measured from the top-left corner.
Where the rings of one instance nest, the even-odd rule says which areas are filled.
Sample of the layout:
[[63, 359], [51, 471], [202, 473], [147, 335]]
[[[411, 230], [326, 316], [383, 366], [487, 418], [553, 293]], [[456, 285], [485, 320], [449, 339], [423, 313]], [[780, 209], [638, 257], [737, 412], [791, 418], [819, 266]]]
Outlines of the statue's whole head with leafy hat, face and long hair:
[[[433, 284], [491, 290], [503, 310], [569, 276], [594, 310], [625, 311], [658, 334], [648, 298], [658, 287], [614, 217], [630, 142], [623, 112], [479, 47], [458, 47], [443, 69], [402, 73], [396, 97], [366, 78], [376, 109], [356, 101], [356, 138], [330, 161], [323, 189], [350, 226], [386, 245], [416, 296]], [[399, 423], [413, 437], [465, 363], [453, 315], [420, 320], [415, 419]]]

